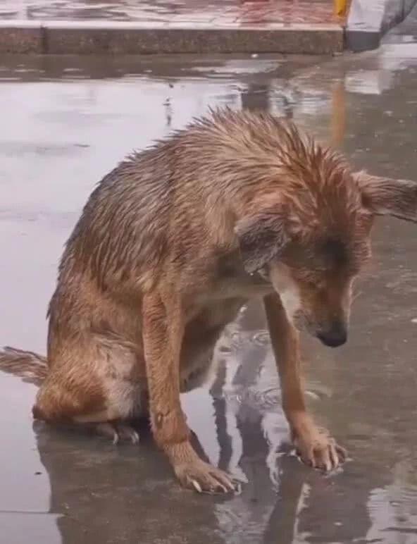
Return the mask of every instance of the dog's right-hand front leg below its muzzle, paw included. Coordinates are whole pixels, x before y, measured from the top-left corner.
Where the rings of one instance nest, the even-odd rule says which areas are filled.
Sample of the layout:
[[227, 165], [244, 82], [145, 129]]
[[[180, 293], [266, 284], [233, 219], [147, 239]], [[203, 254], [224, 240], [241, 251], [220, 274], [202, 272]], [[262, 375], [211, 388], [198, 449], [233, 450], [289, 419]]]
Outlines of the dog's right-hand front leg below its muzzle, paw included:
[[282, 407], [290, 424], [292, 440], [304, 463], [326, 471], [334, 469], [346, 452], [328, 433], [314, 424], [306, 412], [301, 383], [299, 333], [287, 318], [279, 295], [264, 298], [270, 339], [282, 390]]

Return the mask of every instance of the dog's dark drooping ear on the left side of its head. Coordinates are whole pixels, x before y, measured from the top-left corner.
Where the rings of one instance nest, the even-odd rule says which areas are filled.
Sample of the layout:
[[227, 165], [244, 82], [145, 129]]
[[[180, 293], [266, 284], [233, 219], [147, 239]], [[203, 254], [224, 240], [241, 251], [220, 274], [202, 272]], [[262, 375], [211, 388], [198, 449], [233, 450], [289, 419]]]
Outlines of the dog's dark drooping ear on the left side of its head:
[[238, 221], [235, 233], [244, 268], [249, 273], [276, 259], [290, 241], [285, 220], [276, 208], [262, 210]]

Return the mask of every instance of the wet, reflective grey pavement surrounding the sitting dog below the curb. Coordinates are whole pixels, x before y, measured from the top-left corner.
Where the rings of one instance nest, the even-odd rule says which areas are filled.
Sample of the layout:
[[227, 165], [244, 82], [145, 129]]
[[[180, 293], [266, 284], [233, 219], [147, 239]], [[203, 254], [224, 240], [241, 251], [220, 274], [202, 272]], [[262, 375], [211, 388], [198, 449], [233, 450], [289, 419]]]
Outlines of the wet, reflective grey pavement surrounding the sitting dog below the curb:
[[[94, 184], [133, 147], [215, 105], [293, 118], [357, 168], [417, 178], [417, 45], [326, 58], [1, 58], [0, 345], [45, 351], [56, 265]], [[322, 476], [291, 455], [261, 309], [218, 345], [216, 381], [182, 397], [237, 497], [181, 490], [139, 447], [34, 425], [35, 388], [0, 374], [1, 544], [417, 542], [417, 227], [378, 221], [351, 334], [304, 339], [318, 422], [351, 461]]]

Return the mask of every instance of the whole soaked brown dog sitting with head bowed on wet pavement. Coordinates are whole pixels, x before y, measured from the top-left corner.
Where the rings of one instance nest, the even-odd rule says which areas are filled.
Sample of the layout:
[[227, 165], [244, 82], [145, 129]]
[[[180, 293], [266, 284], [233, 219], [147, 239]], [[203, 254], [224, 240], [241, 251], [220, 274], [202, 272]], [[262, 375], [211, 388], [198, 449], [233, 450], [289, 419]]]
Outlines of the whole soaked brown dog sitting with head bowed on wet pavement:
[[101, 181], [61, 260], [47, 359], [6, 348], [0, 368], [40, 385], [44, 421], [135, 442], [128, 421], [149, 413], [183, 485], [232, 490], [192, 449], [180, 392], [204, 381], [225, 325], [263, 297], [294, 445], [330, 470], [344, 450], [306, 413], [297, 331], [345, 342], [378, 214], [415, 221], [417, 184], [351, 173], [267, 113], [211, 112]]

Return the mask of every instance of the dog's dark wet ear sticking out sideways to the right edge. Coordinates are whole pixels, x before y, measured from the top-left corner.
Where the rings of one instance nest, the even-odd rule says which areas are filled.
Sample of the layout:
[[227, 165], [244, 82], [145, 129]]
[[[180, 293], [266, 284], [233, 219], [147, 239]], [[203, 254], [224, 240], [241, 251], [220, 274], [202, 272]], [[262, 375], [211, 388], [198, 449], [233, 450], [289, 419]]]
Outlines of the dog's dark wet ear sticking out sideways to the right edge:
[[362, 192], [363, 206], [377, 216], [393, 216], [417, 222], [417, 182], [354, 174]]

